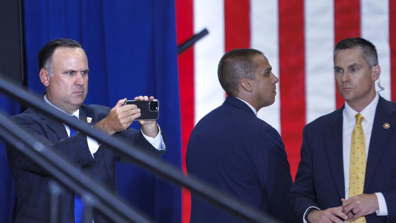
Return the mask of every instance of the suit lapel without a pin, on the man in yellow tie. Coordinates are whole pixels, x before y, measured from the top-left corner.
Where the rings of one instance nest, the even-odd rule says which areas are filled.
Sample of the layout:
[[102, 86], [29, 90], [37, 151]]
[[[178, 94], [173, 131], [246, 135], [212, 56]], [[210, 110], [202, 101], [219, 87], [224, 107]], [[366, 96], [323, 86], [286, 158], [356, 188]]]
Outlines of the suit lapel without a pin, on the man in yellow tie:
[[329, 159], [330, 169], [334, 178], [340, 198], [345, 197], [344, 164], [342, 156], [342, 111], [337, 110], [332, 120], [328, 123], [329, 128], [324, 128], [326, 153]]

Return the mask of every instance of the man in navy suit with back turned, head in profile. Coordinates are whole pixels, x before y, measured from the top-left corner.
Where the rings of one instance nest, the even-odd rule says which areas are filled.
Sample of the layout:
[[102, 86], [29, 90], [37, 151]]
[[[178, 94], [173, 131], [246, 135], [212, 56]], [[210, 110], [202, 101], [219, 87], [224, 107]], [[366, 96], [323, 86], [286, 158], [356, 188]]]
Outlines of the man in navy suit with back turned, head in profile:
[[[191, 133], [186, 163], [189, 175], [288, 222], [290, 168], [279, 133], [257, 117], [274, 103], [275, 84], [267, 58], [256, 49], [235, 49], [221, 58], [218, 77], [228, 94]], [[192, 223], [241, 222], [192, 196]]]

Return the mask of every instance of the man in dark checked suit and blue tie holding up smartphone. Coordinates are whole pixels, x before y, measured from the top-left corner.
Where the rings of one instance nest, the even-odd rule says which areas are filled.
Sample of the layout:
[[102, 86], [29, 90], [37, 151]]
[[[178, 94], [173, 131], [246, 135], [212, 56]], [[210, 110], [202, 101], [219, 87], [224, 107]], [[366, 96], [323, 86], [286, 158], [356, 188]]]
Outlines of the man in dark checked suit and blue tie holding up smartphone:
[[[46, 88], [44, 100], [48, 105], [154, 156], [165, 152], [166, 138], [155, 120], [139, 121], [141, 131], [128, 129], [141, 113], [136, 105], [124, 106], [126, 98], [119, 100], [112, 109], [83, 104], [88, 93], [89, 68], [87, 55], [78, 42], [53, 40], [40, 50], [38, 59], [40, 80]], [[139, 96], [134, 99], [148, 101], [154, 100], [154, 97]], [[123, 157], [87, 135], [33, 109], [13, 116], [12, 120], [82, 172], [103, 186], [116, 190], [115, 161]], [[51, 176], [10, 145], [7, 145], [7, 156], [16, 186], [15, 222], [47, 222], [50, 200], [48, 182]], [[60, 200], [62, 222], [81, 222], [81, 199], [72, 192], [66, 192]], [[93, 220], [95, 223], [108, 221], [99, 213], [94, 214]]]

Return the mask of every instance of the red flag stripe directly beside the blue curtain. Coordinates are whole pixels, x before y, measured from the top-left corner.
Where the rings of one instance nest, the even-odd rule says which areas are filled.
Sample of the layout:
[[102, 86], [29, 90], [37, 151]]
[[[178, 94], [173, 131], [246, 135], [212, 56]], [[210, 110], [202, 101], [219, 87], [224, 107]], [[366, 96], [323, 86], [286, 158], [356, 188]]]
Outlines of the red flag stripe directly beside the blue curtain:
[[[194, 35], [193, 0], [176, 0], [176, 37], [181, 44]], [[185, 174], [186, 150], [191, 131], [194, 128], [194, 49], [184, 51], [178, 57], [180, 113], [181, 113], [181, 168]], [[190, 191], [181, 190], [181, 222], [190, 222]]]

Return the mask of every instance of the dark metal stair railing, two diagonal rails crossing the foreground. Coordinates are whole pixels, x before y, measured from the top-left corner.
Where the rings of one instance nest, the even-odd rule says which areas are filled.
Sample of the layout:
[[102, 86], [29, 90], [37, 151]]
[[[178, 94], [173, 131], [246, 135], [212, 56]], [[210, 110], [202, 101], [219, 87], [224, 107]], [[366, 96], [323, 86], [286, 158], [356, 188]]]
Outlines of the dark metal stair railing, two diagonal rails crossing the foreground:
[[[125, 142], [115, 139], [103, 132], [91, 128], [86, 123], [80, 122], [75, 120], [63, 112], [57, 111], [56, 109], [48, 106], [44, 100], [38, 96], [32, 95], [31, 92], [23, 89], [19, 86], [16, 86], [10, 82], [0, 79], [0, 91], [6, 94], [9, 97], [12, 97], [24, 105], [39, 110], [45, 113], [48, 116], [54, 117], [60, 122], [66, 123], [67, 125], [73, 127], [74, 129], [78, 130], [79, 132], [83, 132], [90, 137], [101, 141], [102, 144], [107, 145], [112, 150], [122, 154], [125, 157], [130, 158], [136, 165], [153, 172], [155, 175], [171, 181], [179, 186], [185, 187], [189, 189], [193, 194], [199, 196], [201, 199], [205, 201], [209, 201], [212, 204], [232, 213], [233, 215], [248, 221], [248, 222], [268, 222], [268, 223], [276, 223], [278, 221], [274, 220], [272, 217], [269, 217], [267, 214], [258, 211], [255, 207], [246, 204], [245, 202], [239, 201], [235, 198], [232, 198], [228, 195], [225, 195], [218, 189], [215, 189], [211, 186], [208, 186], [202, 180], [198, 178], [189, 176], [186, 177], [180, 170], [176, 169], [172, 165], [159, 160], [153, 156], [150, 156], [138, 149], [132, 148], [130, 145], [126, 144]], [[18, 139], [17, 141], [23, 142], [26, 145], [23, 145], [21, 151], [24, 152], [27, 156], [32, 158], [33, 160], [37, 159], [36, 163], [39, 163], [43, 160], [46, 160], [48, 165], [57, 165], [59, 163], [51, 162], [51, 158], [55, 157], [56, 154], [53, 153], [50, 149], [45, 148], [41, 143], [38, 143], [33, 138], [29, 139], [29, 142], [24, 142], [23, 140], [29, 138], [25, 135], [25, 137], [21, 137], [22, 130], [8, 120], [5, 121], [6, 118], [3, 116], [0, 119], [0, 126], [1, 132], [0, 135], [7, 138], [7, 135], [10, 138]], [[3, 122], [4, 121], [4, 122]], [[6, 126], [7, 125], [7, 126]], [[12, 129], [10, 129], [12, 127]], [[17, 134], [14, 134], [17, 133]], [[12, 135], [11, 135], [12, 134]], [[31, 147], [33, 145], [33, 150], [25, 149], [27, 147]], [[16, 145], [18, 147], [18, 143]], [[40, 157], [41, 160], [38, 160]], [[49, 158], [50, 157], [50, 158]], [[120, 220], [123, 219], [130, 219], [129, 221], [136, 221], [136, 219], [141, 219], [141, 222], [150, 221], [147, 218], [144, 218], [138, 212], [133, 211], [132, 208], [127, 207], [125, 203], [117, 200], [114, 195], [111, 195], [109, 192], [105, 191], [102, 187], [98, 187], [92, 180], [88, 178], [84, 178], [84, 175], [80, 173], [76, 168], [73, 168], [70, 164], [66, 161], [60, 162], [62, 166], [57, 166], [57, 169], [54, 171], [59, 171], [56, 174], [54, 173], [53, 176], [61, 181], [63, 184], [68, 186], [69, 188], [76, 191], [78, 194], [81, 194], [85, 201], [89, 201], [90, 207], [95, 207], [104, 212], [105, 209], [112, 210], [114, 215], [109, 216], [111, 218], [119, 217]], [[43, 165], [44, 167], [44, 165]], [[45, 167], [44, 167], [45, 168]], [[70, 172], [72, 174], [65, 174], [66, 172]], [[65, 180], [61, 180], [58, 178], [58, 174], [64, 173]], [[78, 177], [73, 177], [73, 176]], [[67, 179], [67, 180], [66, 180]], [[68, 181], [70, 180], [70, 182]], [[66, 182], [67, 181], [67, 182]], [[91, 188], [95, 187], [95, 191]], [[99, 188], [99, 189], [98, 189]], [[99, 193], [100, 191], [100, 193]], [[86, 195], [86, 196], [84, 196]], [[106, 197], [106, 198], [105, 198]], [[116, 210], [118, 212], [116, 212]], [[85, 212], [92, 212], [91, 210]], [[134, 215], [132, 216], [132, 213]], [[119, 215], [117, 215], [119, 214]], [[88, 217], [89, 219], [89, 217]], [[122, 221], [116, 221], [122, 222]], [[138, 221], [140, 222], [140, 221]]]

